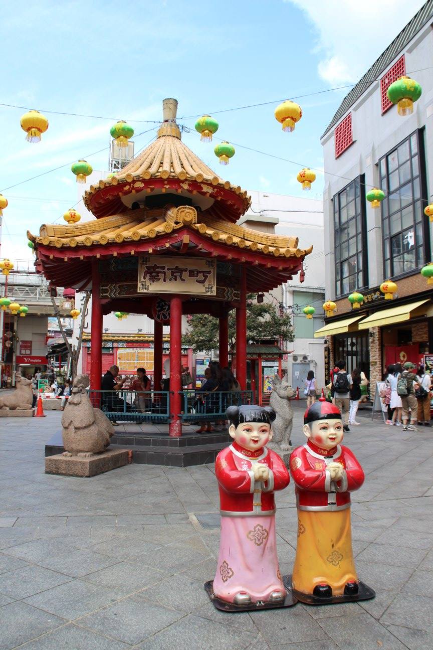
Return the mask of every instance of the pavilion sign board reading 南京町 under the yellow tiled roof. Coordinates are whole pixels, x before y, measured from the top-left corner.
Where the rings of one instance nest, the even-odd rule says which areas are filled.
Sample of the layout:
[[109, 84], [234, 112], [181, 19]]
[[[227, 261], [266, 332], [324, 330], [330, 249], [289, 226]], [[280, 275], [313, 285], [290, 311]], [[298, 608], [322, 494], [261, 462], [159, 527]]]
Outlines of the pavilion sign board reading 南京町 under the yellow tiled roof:
[[216, 295], [216, 260], [197, 257], [140, 257], [139, 293]]

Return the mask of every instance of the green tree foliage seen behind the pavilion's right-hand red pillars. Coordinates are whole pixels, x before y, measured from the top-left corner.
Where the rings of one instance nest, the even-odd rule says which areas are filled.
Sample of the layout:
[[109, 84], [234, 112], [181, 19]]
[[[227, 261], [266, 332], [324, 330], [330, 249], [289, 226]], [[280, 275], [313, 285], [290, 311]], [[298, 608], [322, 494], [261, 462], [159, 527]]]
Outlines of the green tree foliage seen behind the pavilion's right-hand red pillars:
[[[218, 348], [218, 319], [207, 314], [195, 314], [188, 317], [188, 332], [182, 339], [182, 344], [193, 349], [193, 352], [206, 352]], [[256, 302], [256, 294], [247, 296], [247, 341], [260, 343], [264, 339], [274, 341], [293, 341], [293, 327], [290, 316], [280, 315], [277, 305], [269, 302]], [[229, 313], [229, 346], [236, 344], [236, 309]]]

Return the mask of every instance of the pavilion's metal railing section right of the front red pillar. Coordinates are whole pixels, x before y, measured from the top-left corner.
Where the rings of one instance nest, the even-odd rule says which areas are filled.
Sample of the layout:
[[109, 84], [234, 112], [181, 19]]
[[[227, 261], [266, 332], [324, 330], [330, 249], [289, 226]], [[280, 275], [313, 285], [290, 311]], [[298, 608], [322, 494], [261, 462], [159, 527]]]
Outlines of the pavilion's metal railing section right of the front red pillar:
[[241, 406], [253, 402], [253, 391], [211, 391], [201, 393], [195, 390], [180, 391], [184, 422], [213, 422], [225, 420], [229, 406]]

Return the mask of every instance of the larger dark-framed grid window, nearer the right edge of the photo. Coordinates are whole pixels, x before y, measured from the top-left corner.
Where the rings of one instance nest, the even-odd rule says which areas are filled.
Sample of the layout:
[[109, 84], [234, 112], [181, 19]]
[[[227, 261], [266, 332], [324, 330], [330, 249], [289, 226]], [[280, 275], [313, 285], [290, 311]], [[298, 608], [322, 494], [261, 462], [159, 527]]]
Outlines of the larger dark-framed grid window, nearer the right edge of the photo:
[[379, 161], [380, 187], [386, 194], [381, 204], [386, 278], [423, 266], [429, 253], [421, 202], [421, 170], [425, 170], [421, 149], [415, 132]]

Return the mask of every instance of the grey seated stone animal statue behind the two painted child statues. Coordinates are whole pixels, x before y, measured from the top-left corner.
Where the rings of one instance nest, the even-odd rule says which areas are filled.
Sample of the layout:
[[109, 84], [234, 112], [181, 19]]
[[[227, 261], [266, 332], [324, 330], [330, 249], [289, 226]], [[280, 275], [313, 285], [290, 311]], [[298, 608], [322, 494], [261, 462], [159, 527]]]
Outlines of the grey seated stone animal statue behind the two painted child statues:
[[293, 422], [293, 409], [291, 408], [290, 398], [295, 396], [286, 377], [280, 379], [278, 375], [273, 378], [273, 390], [269, 400], [269, 406], [272, 406], [277, 417], [272, 423], [273, 439], [269, 447], [277, 452], [288, 466], [291, 447], [291, 427]]

